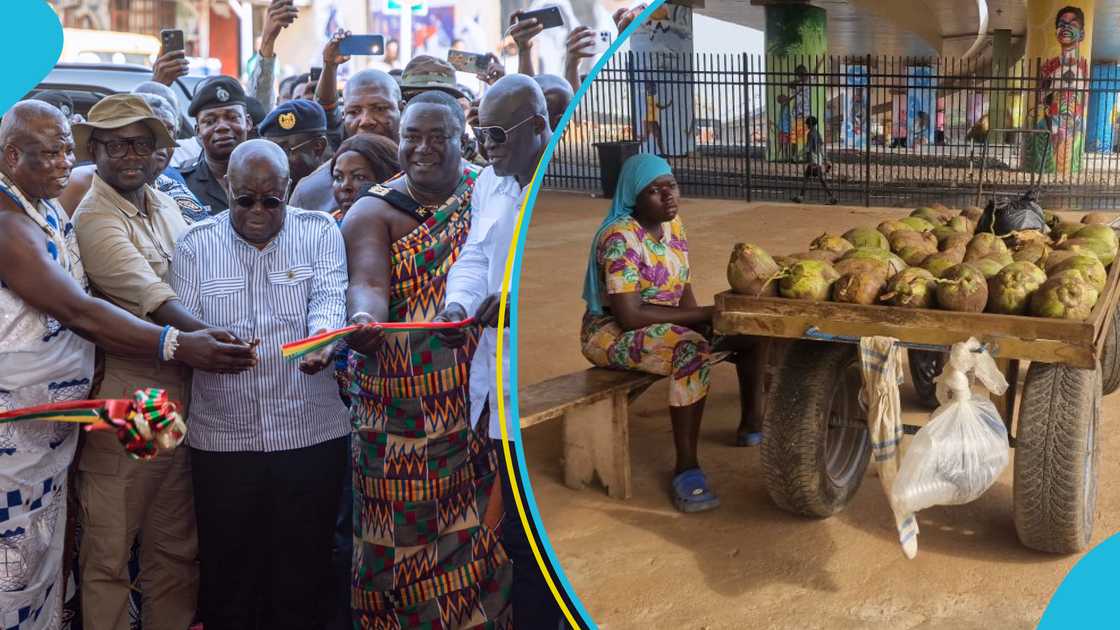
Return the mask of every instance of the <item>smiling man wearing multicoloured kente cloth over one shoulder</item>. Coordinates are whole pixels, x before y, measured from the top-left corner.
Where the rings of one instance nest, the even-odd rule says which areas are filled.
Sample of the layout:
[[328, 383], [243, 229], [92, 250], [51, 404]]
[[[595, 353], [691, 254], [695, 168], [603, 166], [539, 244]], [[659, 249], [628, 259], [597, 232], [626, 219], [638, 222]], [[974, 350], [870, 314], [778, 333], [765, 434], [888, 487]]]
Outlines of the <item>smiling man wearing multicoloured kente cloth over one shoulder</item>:
[[[343, 220], [351, 322], [428, 322], [470, 226], [476, 167], [463, 109], [426, 92], [401, 119], [404, 173]], [[497, 453], [473, 427], [477, 332], [447, 348], [426, 332], [351, 335], [355, 628], [508, 628], [512, 566], [495, 531]]]

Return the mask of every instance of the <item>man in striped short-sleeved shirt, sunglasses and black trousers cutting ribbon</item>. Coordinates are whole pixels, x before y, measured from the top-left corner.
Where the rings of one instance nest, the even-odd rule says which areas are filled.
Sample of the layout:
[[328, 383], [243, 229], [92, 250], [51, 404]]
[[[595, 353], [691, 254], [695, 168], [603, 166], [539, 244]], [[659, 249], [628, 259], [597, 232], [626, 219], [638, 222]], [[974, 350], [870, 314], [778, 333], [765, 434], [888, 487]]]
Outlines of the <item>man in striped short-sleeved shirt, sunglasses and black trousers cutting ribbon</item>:
[[281, 344], [346, 323], [346, 252], [327, 214], [289, 207], [288, 158], [268, 140], [230, 157], [230, 210], [176, 247], [172, 286], [199, 319], [256, 341], [236, 376], [195, 372], [190, 448], [207, 630], [323, 626], [348, 411], [330, 348]]

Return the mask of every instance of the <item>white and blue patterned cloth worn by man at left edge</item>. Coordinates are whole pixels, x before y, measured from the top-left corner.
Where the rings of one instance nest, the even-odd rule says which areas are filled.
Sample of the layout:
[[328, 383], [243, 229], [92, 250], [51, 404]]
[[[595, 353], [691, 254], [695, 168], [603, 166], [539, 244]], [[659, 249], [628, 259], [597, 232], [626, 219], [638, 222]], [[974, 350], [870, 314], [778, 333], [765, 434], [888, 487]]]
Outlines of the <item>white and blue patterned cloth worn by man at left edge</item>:
[[[46, 235], [46, 250], [88, 289], [73, 225], [57, 205], [32, 204], [0, 175], [0, 194]], [[93, 344], [0, 284], [0, 411], [82, 400], [93, 379]], [[0, 628], [62, 622], [66, 472], [78, 428], [69, 423], [0, 425]]]

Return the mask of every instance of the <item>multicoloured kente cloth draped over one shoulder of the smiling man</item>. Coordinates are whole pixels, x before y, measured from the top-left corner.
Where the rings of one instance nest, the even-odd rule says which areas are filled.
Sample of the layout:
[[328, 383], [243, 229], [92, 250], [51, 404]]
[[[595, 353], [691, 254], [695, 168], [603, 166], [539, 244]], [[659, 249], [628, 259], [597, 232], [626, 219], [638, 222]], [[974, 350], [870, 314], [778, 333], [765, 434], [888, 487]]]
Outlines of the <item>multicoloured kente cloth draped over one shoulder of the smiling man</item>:
[[[470, 226], [469, 167], [454, 195], [393, 243], [389, 319], [428, 322]], [[477, 345], [385, 333], [375, 356], [351, 351], [354, 628], [511, 628], [513, 566], [483, 525], [497, 469], [487, 427], [472, 428]]]

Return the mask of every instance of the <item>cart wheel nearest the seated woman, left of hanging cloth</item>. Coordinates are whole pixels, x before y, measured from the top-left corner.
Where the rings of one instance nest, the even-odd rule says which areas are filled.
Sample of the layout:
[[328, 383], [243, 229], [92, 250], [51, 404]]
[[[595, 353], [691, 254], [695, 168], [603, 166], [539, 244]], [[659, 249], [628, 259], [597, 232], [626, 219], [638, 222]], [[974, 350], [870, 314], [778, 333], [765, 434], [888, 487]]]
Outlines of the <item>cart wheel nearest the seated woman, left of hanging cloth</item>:
[[828, 517], [855, 495], [870, 461], [856, 348], [799, 341], [782, 359], [763, 419], [766, 490], [777, 506]]

